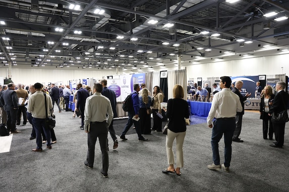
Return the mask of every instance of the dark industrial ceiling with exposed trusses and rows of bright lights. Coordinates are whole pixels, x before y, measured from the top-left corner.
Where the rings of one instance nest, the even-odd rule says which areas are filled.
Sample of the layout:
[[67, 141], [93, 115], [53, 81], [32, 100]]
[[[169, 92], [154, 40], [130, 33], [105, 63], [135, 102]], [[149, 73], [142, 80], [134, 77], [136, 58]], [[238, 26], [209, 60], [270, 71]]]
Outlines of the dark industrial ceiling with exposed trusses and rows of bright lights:
[[285, 0], [0, 0], [0, 69], [135, 72], [287, 54], [288, 15]]

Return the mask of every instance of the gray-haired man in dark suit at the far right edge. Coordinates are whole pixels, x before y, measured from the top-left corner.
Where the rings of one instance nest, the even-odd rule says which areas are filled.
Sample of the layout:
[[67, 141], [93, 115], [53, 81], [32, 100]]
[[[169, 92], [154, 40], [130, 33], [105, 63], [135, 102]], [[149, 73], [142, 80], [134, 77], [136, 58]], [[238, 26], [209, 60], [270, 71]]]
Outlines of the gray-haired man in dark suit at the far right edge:
[[[289, 101], [288, 94], [284, 91], [286, 83], [279, 81], [276, 83], [276, 95], [273, 101], [273, 105], [270, 108], [269, 115], [272, 113], [280, 113], [283, 110], [287, 109], [287, 104]], [[273, 130], [275, 134], [276, 142], [270, 144], [271, 147], [282, 148], [284, 144], [284, 133], [285, 133], [285, 123], [274, 123]]]

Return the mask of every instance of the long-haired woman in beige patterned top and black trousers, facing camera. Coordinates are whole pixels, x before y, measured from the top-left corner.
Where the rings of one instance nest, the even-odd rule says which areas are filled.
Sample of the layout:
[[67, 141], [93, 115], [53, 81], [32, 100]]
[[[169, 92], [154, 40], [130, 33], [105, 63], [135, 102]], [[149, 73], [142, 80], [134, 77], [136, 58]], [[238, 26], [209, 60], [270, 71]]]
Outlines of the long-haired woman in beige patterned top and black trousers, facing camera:
[[163, 102], [164, 95], [159, 88], [159, 86], [153, 87], [153, 105], [152, 105], [152, 118], [153, 118], [153, 127], [152, 130], [161, 132], [161, 119], [157, 116], [157, 113], [161, 114], [160, 103]]

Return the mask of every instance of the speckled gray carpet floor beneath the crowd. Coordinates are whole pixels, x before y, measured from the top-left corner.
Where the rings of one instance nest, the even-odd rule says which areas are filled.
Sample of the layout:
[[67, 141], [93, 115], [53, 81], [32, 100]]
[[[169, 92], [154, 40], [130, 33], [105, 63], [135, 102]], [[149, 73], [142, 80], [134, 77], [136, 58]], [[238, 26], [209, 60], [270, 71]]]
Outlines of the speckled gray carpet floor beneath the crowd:
[[[258, 113], [245, 112], [240, 136], [245, 142], [232, 144], [229, 173], [207, 168], [212, 163], [211, 129], [200, 118], [200, 124], [187, 126], [181, 176], [161, 172], [167, 167], [165, 135], [152, 132], [145, 136], [147, 142], [139, 142], [136, 133], [119, 140], [119, 147], [109, 150], [108, 178], [103, 178], [98, 142], [94, 168], [88, 169], [87, 134], [79, 129], [80, 119], [54, 109], [57, 143], [51, 150], [43, 146], [43, 152], [33, 152], [32, 126], [18, 127], [22, 132], [13, 135], [10, 152], [0, 153], [0, 191], [289, 191], [289, 124], [284, 148], [269, 147], [272, 141], [263, 139]], [[108, 141], [112, 146], [110, 136]], [[221, 162], [223, 148], [221, 139]]]

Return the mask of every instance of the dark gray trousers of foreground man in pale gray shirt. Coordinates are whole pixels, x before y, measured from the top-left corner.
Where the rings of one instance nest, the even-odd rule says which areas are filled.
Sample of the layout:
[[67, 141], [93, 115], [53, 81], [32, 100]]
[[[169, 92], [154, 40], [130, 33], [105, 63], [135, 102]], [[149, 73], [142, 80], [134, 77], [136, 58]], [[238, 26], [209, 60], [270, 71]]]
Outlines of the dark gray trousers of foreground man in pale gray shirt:
[[107, 133], [108, 127], [107, 123], [99, 122], [90, 124], [90, 130], [87, 134], [87, 144], [88, 144], [88, 151], [87, 151], [87, 158], [86, 161], [89, 166], [93, 166], [94, 164], [94, 154], [95, 154], [95, 143], [98, 137], [99, 145], [102, 154], [102, 173], [107, 173], [108, 170], [108, 150], [107, 150]]

